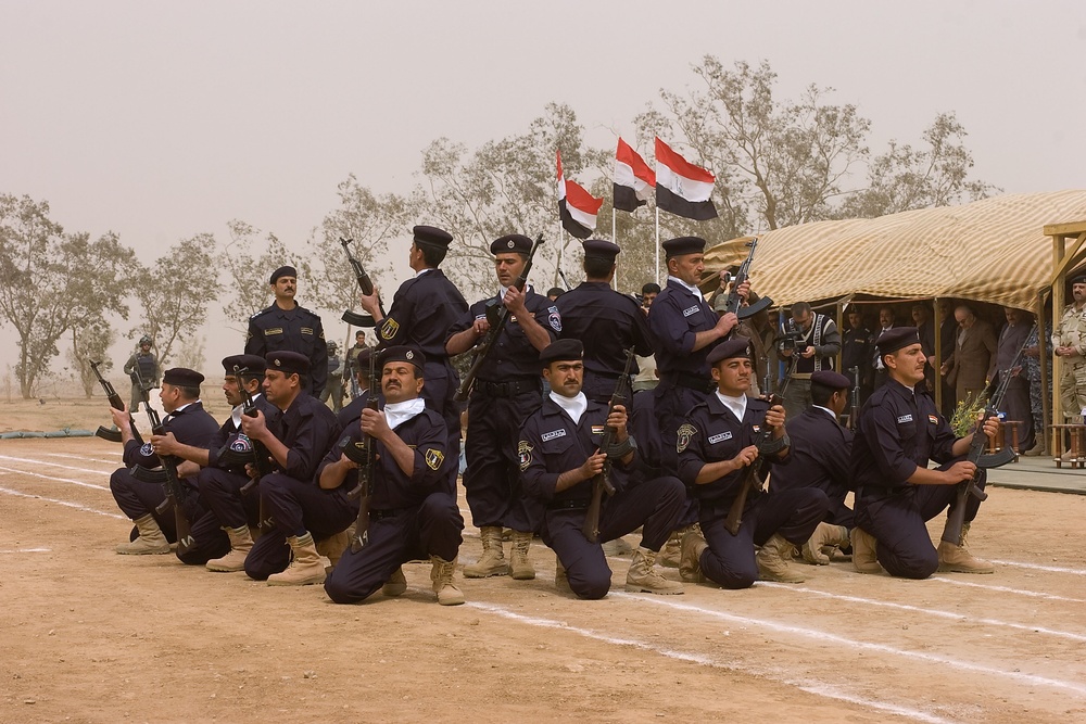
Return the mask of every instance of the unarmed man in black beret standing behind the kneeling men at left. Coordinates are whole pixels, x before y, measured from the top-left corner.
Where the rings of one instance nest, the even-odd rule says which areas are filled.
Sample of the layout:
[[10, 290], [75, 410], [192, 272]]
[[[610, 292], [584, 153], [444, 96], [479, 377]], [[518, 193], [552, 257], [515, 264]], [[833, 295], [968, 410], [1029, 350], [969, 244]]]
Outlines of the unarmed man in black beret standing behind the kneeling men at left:
[[273, 302], [249, 318], [245, 354], [264, 357], [269, 352], [296, 352], [310, 360], [305, 392], [319, 397], [328, 380], [328, 348], [320, 317], [294, 301], [298, 271], [281, 266], [272, 272]]

